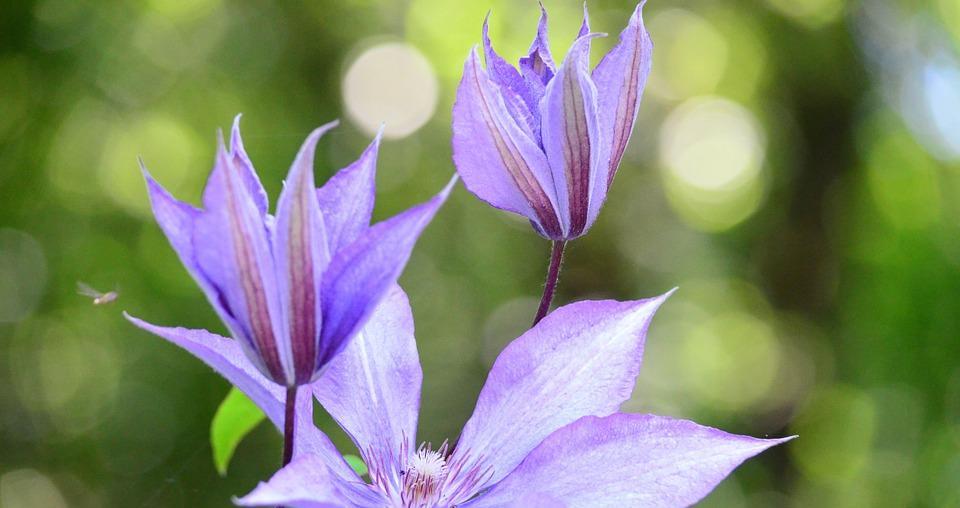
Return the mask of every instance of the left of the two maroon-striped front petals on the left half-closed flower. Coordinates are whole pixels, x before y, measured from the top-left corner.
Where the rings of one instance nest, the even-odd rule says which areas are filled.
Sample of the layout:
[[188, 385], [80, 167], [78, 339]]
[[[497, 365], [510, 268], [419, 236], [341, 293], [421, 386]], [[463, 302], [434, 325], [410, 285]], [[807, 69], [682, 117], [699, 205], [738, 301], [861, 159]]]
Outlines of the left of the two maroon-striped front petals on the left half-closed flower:
[[203, 202], [192, 239], [197, 264], [239, 325], [233, 335], [256, 351], [268, 377], [290, 384], [293, 372], [285, 369], [277, 347], [276, 338], [286, 332], [277, 319], [282, 314], [264, 217], [222, 139]]

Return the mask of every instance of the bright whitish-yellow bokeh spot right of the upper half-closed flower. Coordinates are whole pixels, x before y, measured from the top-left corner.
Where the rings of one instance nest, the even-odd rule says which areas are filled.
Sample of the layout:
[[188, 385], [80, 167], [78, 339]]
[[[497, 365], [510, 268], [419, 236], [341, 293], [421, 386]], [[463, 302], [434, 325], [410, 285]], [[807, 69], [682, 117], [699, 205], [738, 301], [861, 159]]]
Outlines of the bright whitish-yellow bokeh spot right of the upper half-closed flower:
[[691, 226], [722, 231], [749, 217], [765, 190], [765, 141], [754, 115], [727, 99], [691, 99], [660, 131], [667, 197]]

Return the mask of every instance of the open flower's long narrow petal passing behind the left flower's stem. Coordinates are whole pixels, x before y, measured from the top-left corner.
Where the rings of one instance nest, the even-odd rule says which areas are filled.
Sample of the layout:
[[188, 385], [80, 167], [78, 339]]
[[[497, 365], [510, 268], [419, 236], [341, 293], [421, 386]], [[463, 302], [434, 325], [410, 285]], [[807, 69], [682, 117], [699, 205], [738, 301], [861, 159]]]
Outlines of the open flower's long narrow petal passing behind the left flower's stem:
[[[134, 325], [182, 347], [202, 360], [250, 397], [278, 430], [283, 428], [286, 390], [260, 374], [245, 357], [237, 341], [206, 330], [162, 327], [126, 313], [124, 316]], [[295, 456], [306, 453], [317, 455], [323, 458], [339, 478], [344, 481], [359, 481], [333, 443], [313, 424], [313, 397], [308, 389], [301, 389], [297, 394], [295, 432]]]

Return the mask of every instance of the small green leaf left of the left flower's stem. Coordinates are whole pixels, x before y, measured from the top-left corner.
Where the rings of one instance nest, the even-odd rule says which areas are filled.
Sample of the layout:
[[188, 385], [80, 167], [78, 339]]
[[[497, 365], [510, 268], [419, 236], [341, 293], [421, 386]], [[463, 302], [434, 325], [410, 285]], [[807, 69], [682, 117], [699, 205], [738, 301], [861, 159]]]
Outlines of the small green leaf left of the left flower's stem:
[[266, 415], [236, 387], [230, 389], [210, 423], [210, 446], [213, 447], [213, 464], [220, 476], [227, 474], [230, 458], [243, 438], [259, 424]]

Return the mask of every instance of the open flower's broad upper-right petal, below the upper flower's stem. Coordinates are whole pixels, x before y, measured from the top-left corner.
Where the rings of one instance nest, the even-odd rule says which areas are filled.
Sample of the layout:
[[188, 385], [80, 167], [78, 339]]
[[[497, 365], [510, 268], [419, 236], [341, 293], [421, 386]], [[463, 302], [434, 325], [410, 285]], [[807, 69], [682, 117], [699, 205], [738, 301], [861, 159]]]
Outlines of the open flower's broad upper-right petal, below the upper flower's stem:
[[491, 485], [553, 431], [617, 411], [633, 391], [650, 320], [668, 296], [567, 305], [510, 343], [490, 369], [451, 462], [466, 461], [465, 470], [484, 463], [493, 470]]

